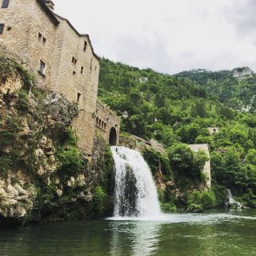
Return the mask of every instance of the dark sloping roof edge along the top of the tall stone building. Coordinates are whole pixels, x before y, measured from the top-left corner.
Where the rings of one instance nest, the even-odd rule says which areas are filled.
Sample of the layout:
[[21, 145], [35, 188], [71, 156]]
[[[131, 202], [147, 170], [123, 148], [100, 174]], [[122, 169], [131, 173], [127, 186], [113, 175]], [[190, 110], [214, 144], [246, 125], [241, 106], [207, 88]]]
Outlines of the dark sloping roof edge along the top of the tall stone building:
[[53, 13], [49, 8], [48, 6], [46, 6], [46, 0], [36, 0], [38, 2], [38, 4], [42, 7], [42, 10], [45, 11], [45, 13], [48, 15], [48, 17], [50, 18], [50, 20], [54, 23], [54, 26], [58, 26], [58, 24], [60, 23], [58, 18], [64, 20], [67, 22], [67, 24], [70, 26], [70, 28], [72, 30], [74, 30], [74, 32], [79, 36], [79, 37], [86, 37], [88, 39], [88, 42], [90, 43], [90, 47], [91, 47], [91, 50], [93, 51], [93, 54], [94, 54], [94, 57], [97, 58], [99, 60], [99, 57], [97, 54], [95, 54], [94, 52], [94, 47], [92, 46], [92, 43], [90, 42], [90, 36], [89, 34], [80, 34], [78, 32], [78, 30], [76, 30], [74, 28], [74, 26], [70, 23], [70, 21], [66, 18], [63, 18], [62, 16], [58, 15], [58, 14], [55, 14]]

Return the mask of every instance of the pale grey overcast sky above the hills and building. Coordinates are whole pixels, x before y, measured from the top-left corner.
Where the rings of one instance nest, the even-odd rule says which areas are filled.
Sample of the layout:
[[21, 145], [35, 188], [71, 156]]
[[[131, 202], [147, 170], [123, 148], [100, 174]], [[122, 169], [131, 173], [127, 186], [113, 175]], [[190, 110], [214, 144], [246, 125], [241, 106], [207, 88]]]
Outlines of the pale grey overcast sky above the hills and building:
[[256, 70], [256, 0], [54, 0], [96, 54], [164, 73]]

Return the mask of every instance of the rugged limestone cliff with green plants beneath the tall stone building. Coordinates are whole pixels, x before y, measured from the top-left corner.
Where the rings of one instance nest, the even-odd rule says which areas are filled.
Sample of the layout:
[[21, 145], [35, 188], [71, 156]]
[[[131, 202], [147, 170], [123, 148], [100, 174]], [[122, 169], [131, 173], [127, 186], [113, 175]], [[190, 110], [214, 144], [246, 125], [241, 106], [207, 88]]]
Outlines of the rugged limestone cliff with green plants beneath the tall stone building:
[[32, 81], [22, 66], [0, 58], [0, 226], [103, 214], [94, 190], [102, 186], [97, 196], [106, 198], [106, 143], [95, 138], [98, 154], [86, 159], [70, 127], [77, 106]]

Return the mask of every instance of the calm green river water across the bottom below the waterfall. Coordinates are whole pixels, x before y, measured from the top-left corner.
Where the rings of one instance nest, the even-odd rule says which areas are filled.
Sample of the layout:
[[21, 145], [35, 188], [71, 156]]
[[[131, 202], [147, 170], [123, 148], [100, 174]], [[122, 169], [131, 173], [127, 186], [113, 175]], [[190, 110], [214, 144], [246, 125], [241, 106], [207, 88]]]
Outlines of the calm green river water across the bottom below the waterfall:
[[0, 230], [0, 255], [256, 255], [256, 210], [166, 214]]

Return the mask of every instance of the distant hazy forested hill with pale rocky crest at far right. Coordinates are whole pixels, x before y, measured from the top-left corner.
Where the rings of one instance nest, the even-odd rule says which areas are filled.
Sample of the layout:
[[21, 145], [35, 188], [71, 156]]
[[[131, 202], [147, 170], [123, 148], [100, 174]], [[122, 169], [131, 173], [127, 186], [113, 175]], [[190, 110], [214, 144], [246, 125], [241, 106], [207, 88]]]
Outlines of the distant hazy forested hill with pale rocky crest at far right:
[[237, 110], [255, 112], [256, 74], [248, 67], [234, 70], [190, 70], [176, 74], [190, 78], [206, 90], [207, 94]]

